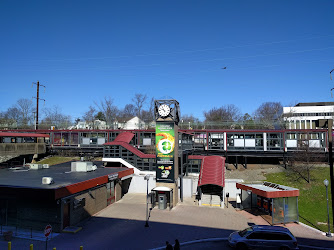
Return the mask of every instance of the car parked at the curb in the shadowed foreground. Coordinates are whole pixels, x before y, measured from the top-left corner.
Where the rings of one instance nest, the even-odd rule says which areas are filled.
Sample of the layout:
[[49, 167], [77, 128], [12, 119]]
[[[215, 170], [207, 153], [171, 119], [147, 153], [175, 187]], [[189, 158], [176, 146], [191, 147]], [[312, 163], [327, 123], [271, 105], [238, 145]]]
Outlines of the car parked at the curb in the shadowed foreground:
[[289, 229], [279, 226], [254, 225], [228, 237], [231, 247], [237, 249], [299, 249], [297, 240]]

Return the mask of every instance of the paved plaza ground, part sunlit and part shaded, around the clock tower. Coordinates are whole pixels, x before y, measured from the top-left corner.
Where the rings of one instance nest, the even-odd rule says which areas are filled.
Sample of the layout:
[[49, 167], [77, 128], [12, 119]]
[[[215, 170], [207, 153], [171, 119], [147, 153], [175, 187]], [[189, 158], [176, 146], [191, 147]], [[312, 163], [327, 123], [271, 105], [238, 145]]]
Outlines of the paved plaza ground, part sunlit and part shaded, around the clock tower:
[[[226, 249], [226, 238], [234, 230], [250, 224], [267, 224], [261, 217], [245, 211], [229, 208], [194, 206], [193, 200], [185, 200], [173, 210], [153, 209], [149, 227], [145, 227], [145, 195], [126, 195], [121, 201], [97, 213], [82, 224], [76, 234], [62, 233], [48, 242], [48, 249], [164, 249], [165, 241], [174, 243], [179, 239], [182, 249]], [[334, 241], [307, 227], [291, 224], [288, 226], [298, 237], [299, 244], [311, 244], [327, 249]], [[184, 245], [185, 242], [219, 238], [218, 241]], [[225, 240], [224, 240], [225, 239]], [[45, 242], [14, 238], [12, 249], [46, 249]], [[7, 249], [7, 242], [0, 241], [0, 249]], [[301, 247], [301, 249], [304, 249]], [[306, 248], [305, 248], [306, 249]], [[309, 248], [322, 249], [322, 248]], [[334, 249], [334, 248], [333, 248]]]

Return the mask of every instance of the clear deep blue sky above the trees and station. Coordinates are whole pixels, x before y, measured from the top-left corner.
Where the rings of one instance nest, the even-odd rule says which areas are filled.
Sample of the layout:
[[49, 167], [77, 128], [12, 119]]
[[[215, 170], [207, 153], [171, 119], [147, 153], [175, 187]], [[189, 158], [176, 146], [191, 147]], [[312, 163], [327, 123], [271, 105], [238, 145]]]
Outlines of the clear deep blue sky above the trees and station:
[[[72, 118], [111, 97], [181, 114], [334, 101], [334, 1], [0, 1], [0, 111], [36, 96]], [[227, 67], [225, 70], [222, 67]], [[35, 100], [34, 100], [35, 102]]]

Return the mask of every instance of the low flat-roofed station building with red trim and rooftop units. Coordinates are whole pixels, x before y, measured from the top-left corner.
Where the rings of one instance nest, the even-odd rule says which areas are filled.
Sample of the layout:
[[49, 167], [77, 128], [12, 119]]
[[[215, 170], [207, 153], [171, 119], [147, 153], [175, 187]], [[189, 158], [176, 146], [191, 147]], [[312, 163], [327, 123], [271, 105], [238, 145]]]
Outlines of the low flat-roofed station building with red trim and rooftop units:
[[132, 175], [102, 162], [0, 169], [0, 224], [39, 231], [51, 224], [61, 232], [120, 200]]

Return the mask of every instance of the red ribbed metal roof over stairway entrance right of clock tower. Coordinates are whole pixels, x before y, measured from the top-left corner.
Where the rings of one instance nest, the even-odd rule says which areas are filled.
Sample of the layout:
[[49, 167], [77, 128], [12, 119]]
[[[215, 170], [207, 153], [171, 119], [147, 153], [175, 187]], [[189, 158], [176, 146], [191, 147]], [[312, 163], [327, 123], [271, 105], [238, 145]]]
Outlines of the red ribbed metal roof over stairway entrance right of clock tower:
[[221, 156], [205, 156], [202, 160], [198, 186], [225, 186], [225, 158]]

